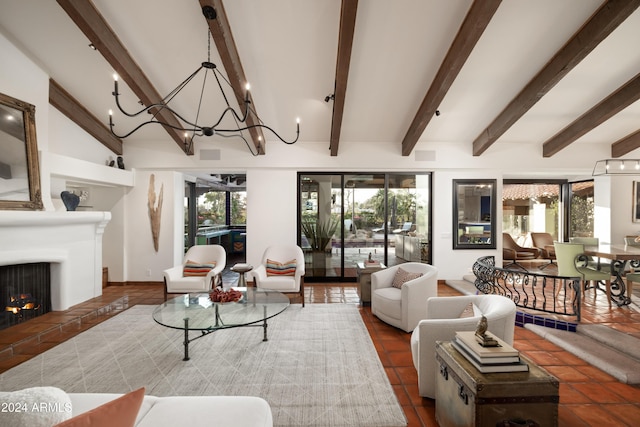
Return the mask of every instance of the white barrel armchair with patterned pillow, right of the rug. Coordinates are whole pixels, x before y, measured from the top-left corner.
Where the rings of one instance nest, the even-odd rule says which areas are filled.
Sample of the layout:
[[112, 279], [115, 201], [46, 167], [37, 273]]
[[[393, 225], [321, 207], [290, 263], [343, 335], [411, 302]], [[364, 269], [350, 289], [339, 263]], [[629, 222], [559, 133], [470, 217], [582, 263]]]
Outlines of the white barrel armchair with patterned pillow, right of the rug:
[[[422, 273], [393, 286], [398, 270]], [[380, 320], [411, 332], [427, 316], [427, 299], [438, 296], [438, 269], [429, 264], [406, 262], [371, 274], [371, 312]]]

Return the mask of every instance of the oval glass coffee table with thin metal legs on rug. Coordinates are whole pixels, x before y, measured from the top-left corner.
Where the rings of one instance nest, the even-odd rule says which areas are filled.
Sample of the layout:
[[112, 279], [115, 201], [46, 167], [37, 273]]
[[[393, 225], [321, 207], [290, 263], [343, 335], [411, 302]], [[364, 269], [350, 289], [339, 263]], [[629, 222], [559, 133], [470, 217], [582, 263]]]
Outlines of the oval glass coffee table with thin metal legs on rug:
[[[238, 302], [217, 303], [209, 294], [186, 294], [160, 304], [153, 320], [167, 328], [184, 331], [184, 359], [189, 360], [189, 343], [221, 329], [262, 326], [267, 341], [267, 319], [282, 313], [289, 298], [277, 291], [255, 287], [233, 288], [242, 292]], [[190, 331], [200, 335], [189, 338]]]

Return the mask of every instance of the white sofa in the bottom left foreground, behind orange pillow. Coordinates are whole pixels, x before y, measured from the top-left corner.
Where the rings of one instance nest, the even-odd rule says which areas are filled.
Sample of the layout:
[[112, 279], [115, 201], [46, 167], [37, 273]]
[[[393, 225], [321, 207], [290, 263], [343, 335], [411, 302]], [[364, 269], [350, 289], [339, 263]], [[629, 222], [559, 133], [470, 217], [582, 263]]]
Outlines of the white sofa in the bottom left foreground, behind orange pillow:
[[[121, 394], [69, 393], [72, 415], [103, 405]], [[145, 396], [136, 427], [272, 427], [271, 407], [253, 396]]]

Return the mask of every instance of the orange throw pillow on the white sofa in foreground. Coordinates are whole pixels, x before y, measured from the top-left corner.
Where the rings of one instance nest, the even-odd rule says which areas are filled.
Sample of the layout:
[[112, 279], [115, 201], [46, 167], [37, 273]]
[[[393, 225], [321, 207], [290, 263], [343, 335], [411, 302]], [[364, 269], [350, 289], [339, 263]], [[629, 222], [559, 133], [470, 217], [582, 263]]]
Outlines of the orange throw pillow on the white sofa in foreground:
[[56, 424], [55, 427], [133, 427], [144, 398], [144, 387]]

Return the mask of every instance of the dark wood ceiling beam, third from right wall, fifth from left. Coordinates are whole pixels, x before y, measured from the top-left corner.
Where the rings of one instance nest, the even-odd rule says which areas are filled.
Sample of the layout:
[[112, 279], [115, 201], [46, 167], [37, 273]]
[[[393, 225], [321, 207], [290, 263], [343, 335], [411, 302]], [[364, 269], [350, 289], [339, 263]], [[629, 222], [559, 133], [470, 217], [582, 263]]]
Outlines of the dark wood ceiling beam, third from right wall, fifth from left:
[[501, 2], [501, 0], [476, 0], [471, 5], [467, 16], [458, 30], [458, 34], [453, 40], [453, 43], [451, 43], [447, 55], [442, 61], [429, 90], [422, 100], [402, 140], [403, 156], [408, 156], [415, 148], [418, 139], [424, 133], [438, 106], [449, 91], [449, 88], [458, 76], [467, 58], [469, 58], [480, 36], [482, 36], [487, 25], [489, 25], [491, 18], [493, 18], [496, 10], [498, 10]]

